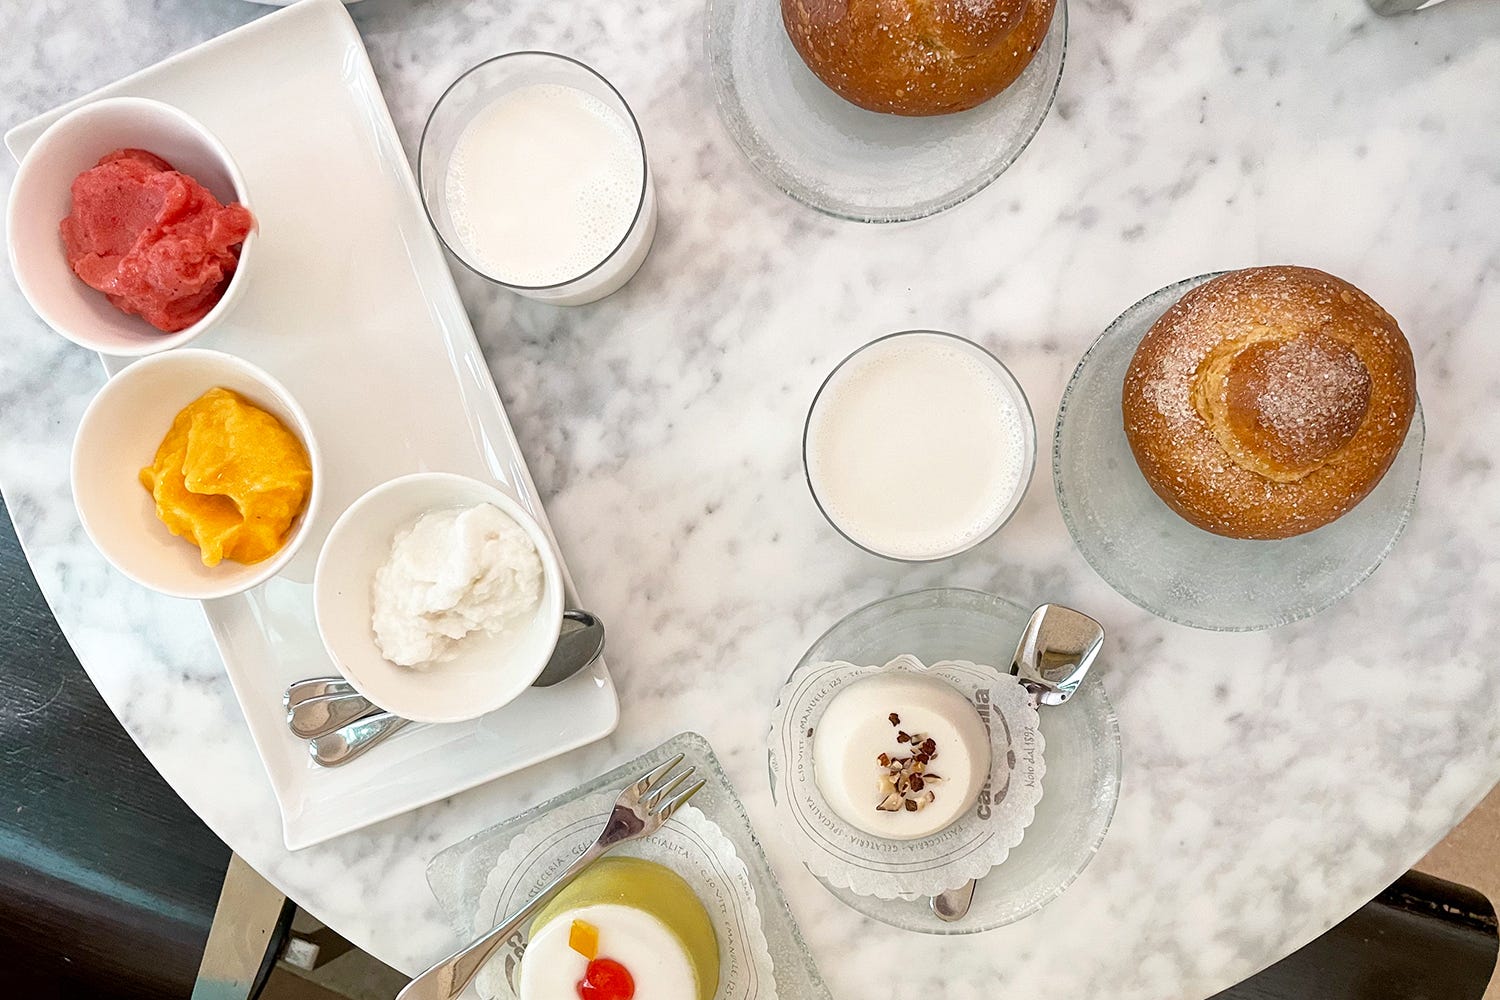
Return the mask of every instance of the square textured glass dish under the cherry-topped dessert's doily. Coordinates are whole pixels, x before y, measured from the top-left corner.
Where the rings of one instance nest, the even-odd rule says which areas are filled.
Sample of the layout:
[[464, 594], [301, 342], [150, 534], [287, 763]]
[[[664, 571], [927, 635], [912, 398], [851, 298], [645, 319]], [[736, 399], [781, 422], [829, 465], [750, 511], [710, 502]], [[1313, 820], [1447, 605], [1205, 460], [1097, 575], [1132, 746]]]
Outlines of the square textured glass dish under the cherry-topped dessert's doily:
[[818, 963], [807, 951], [796, 921], [786, 909], [786, 897], [782, 895], [782, 886], [765, 861], [754, 831], [750, 829], [750, 819], [746, 816], [740, 796], [735, 795], [729, 777], [718, 766], [712, 747], [698, 733], [678, 733], [656, 750], [622, 763], [609, 774], [440, 852], [428, 865], [428, 885], [432, 886], [432, 895], [442, 904], [448, 922], [464, 940], [472, 937], [470, 921], [478, 910], [480, 894], [489, 882], [495, 861], [510, 844], [512, 837], [530, 826], [538, 816], [602, 789], [622, 789], [676, 754], [684, 754], [687, 763], [698, 768], [694, 777], [708, 781], [704, 790], [693, 796], [693, 805], [729, 838], [754, 882], [756, 909], [760, 912], [760, 930], [765, 933], [766, 948], [776, 969], [777, 996], [782, 1000], [832, 1000], [828, 987], [824, 985], [822, 975], [818, 972]]

